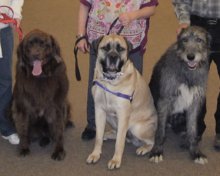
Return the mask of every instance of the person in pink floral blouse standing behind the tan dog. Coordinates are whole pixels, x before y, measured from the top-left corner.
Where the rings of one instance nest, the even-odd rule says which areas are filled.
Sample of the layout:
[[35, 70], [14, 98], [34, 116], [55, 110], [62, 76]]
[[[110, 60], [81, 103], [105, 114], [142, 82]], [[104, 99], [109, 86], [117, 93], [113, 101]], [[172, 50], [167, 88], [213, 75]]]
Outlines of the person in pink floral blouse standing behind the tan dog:
[[[100, 36], [106, 35], [112, 22], [119, 17], [119, 22], [110, 32], [117, 33], [119, 28], [124, 26], [121, 35], [126, 37], [133, 45], [133, 51], [129, 58], [131, 58], [137, 70], [142, 73], [143, 53], [147, 42], [149, 20], [150, 16], [155, 13], [157, 5], [157, 0], [80, 0], [77, 38], [86, 36], [91, 44]], [[93, 139], [96, 134], [94, 101], [91, 94], [96, 54], [92, 48], [89, 48], [85, 39], [81, 40], [77, 47], [83, 53], [90, 50], [87, 95], [88, 124], [82, 133], [82, 139], [89, 140]]]

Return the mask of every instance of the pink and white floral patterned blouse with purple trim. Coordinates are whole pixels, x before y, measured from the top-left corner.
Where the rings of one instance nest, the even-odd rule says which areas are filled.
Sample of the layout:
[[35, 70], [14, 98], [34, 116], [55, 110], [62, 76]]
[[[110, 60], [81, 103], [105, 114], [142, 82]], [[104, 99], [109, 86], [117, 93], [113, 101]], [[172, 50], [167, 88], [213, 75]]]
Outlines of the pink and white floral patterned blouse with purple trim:
[[[158, 5], [157, 0], [80, 0], [80, 2], [90, 8], [87, 21], [87, 36], [90, 43], [108, 32], [117, 33], [121, 27], [120, 22], [117, 22], [111, 31], [109, 28], [122, 12]], [[148, 28], [149, 18], [142, 18], [124, 27], [120, 35], [126, 37], [134, 49], [145, 50]]]

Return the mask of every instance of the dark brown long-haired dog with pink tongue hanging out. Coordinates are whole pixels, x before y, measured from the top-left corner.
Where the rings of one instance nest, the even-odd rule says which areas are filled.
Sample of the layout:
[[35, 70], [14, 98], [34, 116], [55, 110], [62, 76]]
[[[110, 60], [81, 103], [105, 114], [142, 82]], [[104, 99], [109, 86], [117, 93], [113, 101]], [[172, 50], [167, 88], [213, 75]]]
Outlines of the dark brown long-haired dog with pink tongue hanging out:
[[51, 35], [34, 30], [19, 44], [17, 57], [12, 117], [20, 137], [20, 155], [29, 154], [29, 141], [37, 135], [41, 146], [53, 139], [51, 157], [62, 160], [63, 131], [70, 122], [70, 106], [60, 47]]

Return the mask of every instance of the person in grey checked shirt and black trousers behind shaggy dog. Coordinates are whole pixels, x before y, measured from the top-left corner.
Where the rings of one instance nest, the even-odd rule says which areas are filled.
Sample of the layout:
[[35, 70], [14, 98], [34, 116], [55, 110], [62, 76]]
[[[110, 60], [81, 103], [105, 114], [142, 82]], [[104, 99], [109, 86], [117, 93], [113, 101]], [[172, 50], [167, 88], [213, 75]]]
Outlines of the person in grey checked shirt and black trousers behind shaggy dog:
[[[189, 25], [196, 25], [205, 28], [212, 36], [210, 63], [214, 61], [220, 75], [220, 0], [173, 0], [176, 16], [179, 20], [179, 28]], [[206, 125], [204, 122], [206, 105], [199, 116], [198, 136], [202, 137]], [[217, 110], [215, 112], [216, 137], [214, 147], [220, 151], [220, 93], [217, 100]]]

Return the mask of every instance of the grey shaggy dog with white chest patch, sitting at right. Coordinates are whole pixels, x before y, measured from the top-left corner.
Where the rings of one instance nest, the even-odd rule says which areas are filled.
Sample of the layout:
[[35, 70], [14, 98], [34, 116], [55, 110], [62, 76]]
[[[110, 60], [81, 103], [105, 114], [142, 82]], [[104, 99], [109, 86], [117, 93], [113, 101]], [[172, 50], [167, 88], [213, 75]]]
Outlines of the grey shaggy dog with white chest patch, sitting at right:
[[180, 121], [185, 126], [176, 129], [185, 132], [184, 146], [189, 148], [192, 159], [207, 163], [198, 147], [197, 120], [205, 103], [209, 46], [210, 36], [204, 29], [188, 27], [155, 65], [149, 86], [158, 112], [158, 128], [150, 161], [163, 160], [166, 126], [172, 122], [175, 129]]

